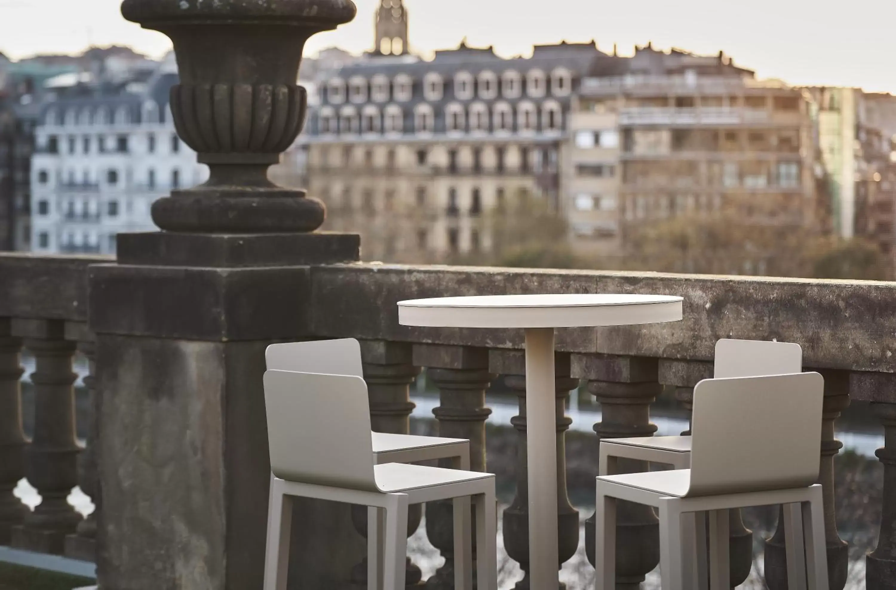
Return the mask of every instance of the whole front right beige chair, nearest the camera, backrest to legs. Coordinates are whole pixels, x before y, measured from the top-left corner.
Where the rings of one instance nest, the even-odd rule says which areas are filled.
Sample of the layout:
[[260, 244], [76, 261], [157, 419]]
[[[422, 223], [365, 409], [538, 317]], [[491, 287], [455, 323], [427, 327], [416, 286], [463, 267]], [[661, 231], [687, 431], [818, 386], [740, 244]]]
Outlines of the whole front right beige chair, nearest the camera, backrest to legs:
[[[663, 590], [694, 587], [685, 581], [691, 557], [683, 515], [708, 513], [710, 587], [728, 588], [728, 510], [771, 504], [785, 508], [788, 587], [806, 590], [808, 577], [810, 590], [828, 590], [822, 487], [814, 484], [823, 389], [814, 372], [701, 381], [694, 389], [690, 468], [598, 476], [596, 590], [616, 587], [616, 500], [659, 509]], [[794, 526], [797, 504], [802, 534]], [[803, 551], [805, 560], [789, 559]]]

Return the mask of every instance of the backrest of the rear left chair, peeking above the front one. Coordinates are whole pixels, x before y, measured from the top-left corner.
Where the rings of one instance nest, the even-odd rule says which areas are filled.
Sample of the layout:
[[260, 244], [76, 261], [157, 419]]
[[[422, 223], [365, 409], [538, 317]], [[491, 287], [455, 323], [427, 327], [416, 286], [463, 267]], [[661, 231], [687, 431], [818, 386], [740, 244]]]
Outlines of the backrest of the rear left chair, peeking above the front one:
[[272, 344], [264, 352], [268, 369], [364, 377], [361, 345], [355, 338]]

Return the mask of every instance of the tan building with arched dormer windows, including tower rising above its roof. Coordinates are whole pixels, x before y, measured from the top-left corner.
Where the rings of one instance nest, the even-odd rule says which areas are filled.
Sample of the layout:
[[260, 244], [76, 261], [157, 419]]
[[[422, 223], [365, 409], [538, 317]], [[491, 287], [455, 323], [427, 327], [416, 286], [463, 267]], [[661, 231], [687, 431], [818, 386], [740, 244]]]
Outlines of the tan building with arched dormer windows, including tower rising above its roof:
[[505, 59], [461, 43], [424, 61], [408, 52], [401, 2], [383, 4], [375, 52], [319, 81], [300, 139], [309, 193], [327, 204], [325, 228], [362, 235], [367, 260], [488, 252], [494, 211], [524, 194], [558, 207], [566, 115], [599, 51]]

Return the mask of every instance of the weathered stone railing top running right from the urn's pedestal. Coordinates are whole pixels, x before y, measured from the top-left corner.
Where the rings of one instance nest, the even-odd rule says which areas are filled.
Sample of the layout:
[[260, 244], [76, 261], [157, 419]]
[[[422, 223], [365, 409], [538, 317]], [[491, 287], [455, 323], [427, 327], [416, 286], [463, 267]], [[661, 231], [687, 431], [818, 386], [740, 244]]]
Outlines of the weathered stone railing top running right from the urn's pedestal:
[[685, 298], [685, 320], [558, 330], [580, 353], [709, 361], [719, 338], [797, 342], [807, 367], [896, 372], [896, 283], [591, 270], [344, 264], [314, 269], [314, 335], [521, 348], [520, 330], [410, 328], [397, 302], [449, 295], [650, 293]]

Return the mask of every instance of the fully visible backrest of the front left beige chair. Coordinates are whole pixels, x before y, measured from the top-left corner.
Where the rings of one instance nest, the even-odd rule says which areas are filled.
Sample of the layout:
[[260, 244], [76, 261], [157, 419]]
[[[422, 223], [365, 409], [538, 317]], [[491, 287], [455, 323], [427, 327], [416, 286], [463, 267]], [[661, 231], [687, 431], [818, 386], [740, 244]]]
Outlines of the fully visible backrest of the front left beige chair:
[[377, 492], [367, 386], [353, 375], [264, 373], [271, 472]]

